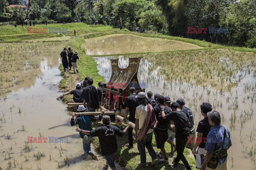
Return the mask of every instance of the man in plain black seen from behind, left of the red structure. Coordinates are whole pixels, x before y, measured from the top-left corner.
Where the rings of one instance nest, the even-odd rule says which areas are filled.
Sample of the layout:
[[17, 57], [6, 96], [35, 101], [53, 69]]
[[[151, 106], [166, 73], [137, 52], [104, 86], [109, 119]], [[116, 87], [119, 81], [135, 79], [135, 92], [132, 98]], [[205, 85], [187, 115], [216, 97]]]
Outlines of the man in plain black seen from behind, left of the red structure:
[[88, 79], [88, 86], [86, 86], [82, 92], [81, 97], [84, 99], [84, 104], [87, 103], [87, 109], [89, 112], [95, 112], [95, 109], [100, 107], [99, 95], [97, 88], [92, 86], [93, 79]]

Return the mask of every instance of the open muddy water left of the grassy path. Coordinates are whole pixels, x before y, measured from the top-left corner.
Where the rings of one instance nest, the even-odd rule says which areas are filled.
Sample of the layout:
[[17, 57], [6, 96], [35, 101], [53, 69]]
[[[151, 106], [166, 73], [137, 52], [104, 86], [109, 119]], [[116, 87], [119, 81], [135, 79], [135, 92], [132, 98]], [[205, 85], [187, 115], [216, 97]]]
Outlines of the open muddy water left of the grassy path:
[[[95, 162], [81, 156], [82, 140], [70, 126], [66, 105], [56, 100], [61, 95], [59, 54], [65, 44], [48, 45], [50, 53], [42, 54], [38, 67], [27, 72], [28, 77], [30, 73], [34, 76], [1, 96], [0, 169], [101, 169], [105, 163], [102, 158]], [[37, 53], [33, 49], [30, 52]], [[34, 58], [26, 60], [28, 65], [34, 62]], [[30, 79], [32, 82], [26, 83]], [[27, 143], [28, 137], [47, 139], [46, 143]]]

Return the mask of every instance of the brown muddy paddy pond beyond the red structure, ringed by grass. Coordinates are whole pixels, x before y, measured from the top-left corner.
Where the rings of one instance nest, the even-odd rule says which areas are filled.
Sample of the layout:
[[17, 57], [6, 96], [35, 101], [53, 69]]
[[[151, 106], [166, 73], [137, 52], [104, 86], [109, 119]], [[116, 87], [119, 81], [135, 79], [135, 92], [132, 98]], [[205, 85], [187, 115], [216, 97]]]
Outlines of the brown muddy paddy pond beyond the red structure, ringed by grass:
[[141, 52], [166, 52], [170, 50], [202, 48], [181, 41], [139, 37], [129, 34], [114, 34], [109, 36], [86, 39], [82, 44], [87, 55], [108, 55]]

